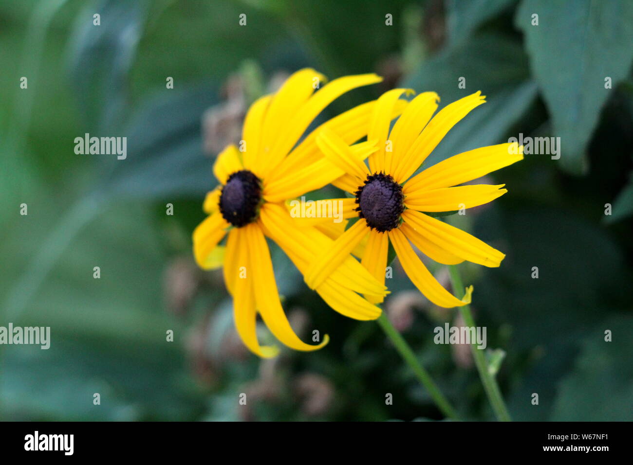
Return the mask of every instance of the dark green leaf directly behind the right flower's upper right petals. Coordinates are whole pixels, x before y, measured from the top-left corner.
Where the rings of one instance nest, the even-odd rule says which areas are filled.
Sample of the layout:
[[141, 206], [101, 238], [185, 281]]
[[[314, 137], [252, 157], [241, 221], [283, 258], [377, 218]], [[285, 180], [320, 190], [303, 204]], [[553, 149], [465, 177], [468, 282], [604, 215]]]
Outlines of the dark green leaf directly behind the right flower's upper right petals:
[[[486, 104], [451, 129], [425, 166], [464, 151], [506, 142], [511, 126], [537, 95], [536, 84], [527, 80], [527, 75], [527, 56], [519, 44], [499, 35], [482, 34], [425, 61], [416, 73], [406, 77], [403, 87], [417, 92], [434, 90], [442, 105], [477, 90], [486, 95]], [[461, 77], [465, 78], [465, 89], [458, 87]]]

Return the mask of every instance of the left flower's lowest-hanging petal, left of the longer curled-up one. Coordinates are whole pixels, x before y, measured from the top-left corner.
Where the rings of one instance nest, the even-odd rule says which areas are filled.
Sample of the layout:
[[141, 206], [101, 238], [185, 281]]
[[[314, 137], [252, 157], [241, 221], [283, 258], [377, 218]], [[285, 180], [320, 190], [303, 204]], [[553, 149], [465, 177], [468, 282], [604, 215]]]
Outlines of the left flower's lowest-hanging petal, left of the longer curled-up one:
[[[229, 240], [232, 237], [237, 237], [239, 235], [240, 229], [234, 230], [229, 235]], [[248, 249], [246, 244], [244, 247], [240, 249], [235, 249], [237, 252], [237, 262], [246, 263], [248, 257], [246, 254], [248, 253]], [[270, 358], [275, 357], [279, 353], [279, 348], [276, 346], [263, 346], [261, 347], [257, 340], [257, 332], [256, 332], [256, 318], [257, 312], [255, 309], [255, 295], [253, 291], [253, 277], [252, 274], [246, 274], [244, 278], [237, 278], [235, 276], [235, 292], [233, 293], [233, 313], [235, 319], [235, 329], [239, 334], [239, 337], [244, 342], [244, 345], [248, 347], [251, 352], [254, 354], [264, 357]]]

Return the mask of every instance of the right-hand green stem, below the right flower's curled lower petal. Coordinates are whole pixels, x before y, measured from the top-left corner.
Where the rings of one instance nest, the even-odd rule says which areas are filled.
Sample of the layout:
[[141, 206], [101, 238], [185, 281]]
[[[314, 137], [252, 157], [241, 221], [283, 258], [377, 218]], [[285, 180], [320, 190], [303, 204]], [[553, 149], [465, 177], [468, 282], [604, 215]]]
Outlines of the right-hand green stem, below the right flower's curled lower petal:
[[[449, 266], [448, 268], [451, 275], [453, 292], [456, 292], [458, 289], [463, 289], [464, 287], [461, 283], [459, 268], [457, 268], [456, 265]], [[466, 326], [474, 328], [475, 319], [473, 319], [472, 313], [470, 311], [470, 305], [461, 306], [459, 307], [459, 309], [461, 313], [461, 318], [463, 318], [464, 320], [464, 324]], [[472, 341], [472, 344], [470, 344], [470, 351], [473, 354], [473, 359], [475, 359], [475, 365], [477, 366], [477, 371], [479, 371], [479, 378], [484, 385], [486, 395], [490, 400], [490, 404], [492, 405], [494, 414], [499, 421], [511, 421], [510, 413], [508, 413], [508, 408], [503, 401], [503, 395], [501, 395], [501, 390], [499, 390], [497, 380], [494, 375], [492, 375], [492, 373], [490, 373], [490, 371], [488, 370], [488, 363], [486, 361], [484, 350], [477, 349], [477, 342]]]

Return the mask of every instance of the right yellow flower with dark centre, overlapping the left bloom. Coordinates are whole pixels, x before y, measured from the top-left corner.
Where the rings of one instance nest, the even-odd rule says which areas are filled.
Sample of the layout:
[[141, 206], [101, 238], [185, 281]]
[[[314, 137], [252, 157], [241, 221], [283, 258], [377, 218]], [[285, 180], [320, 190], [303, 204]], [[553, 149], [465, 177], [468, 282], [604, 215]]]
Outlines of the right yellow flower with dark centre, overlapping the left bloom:
[[[341, 260], [368, 236], [362, 264], [380, 282], [385, 280], [389, 240], [400, 263], [415, 286], [441, 307], [470, 303], [472, 286], [462, 299], [454, 297], [437, 282], [417, 256], [411, 243], [423, 254], [443, 264], [464, 260], [484, 266], [499, 266], [505, 255], [472, 235], [427, 213], [456, 211], [490, 202], [505, 194], [502, 185], [464, 185], [523, 158], [518, 144], [481, 147], [455, 155], [413, 175], [444, 135], [472, 109], [484, 103], [480, 92], [443, 108], [433, 117], [439, 97], [425, 92], [406, 104], [391, 131], [394, 107], [401, 106], [403, 94], [394, 89], [383, 94], [368, 121], [367, 137], [377, 140], [378, 150], [369, 156], [369, 166], [356, 156], [334, 130], [323, 128], [316, 143], [345, 175], [334, 185], [354, 195], [357, 208], [346, 216], [360, 217], [335, 240], [334, 245], [311, 263], [305, 275], [309, 286], [318, 286]], [[367, 296], [370, 302], [383, 297]]]

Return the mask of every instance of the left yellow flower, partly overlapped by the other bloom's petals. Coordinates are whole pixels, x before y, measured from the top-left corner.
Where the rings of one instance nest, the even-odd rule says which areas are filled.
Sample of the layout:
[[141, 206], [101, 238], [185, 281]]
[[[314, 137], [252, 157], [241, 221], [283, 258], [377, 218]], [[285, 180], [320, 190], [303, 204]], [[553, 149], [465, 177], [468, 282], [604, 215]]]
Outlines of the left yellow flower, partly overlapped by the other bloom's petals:
[[[315, 70], [300, 70], [276, 94], [253, 103], [239, 149], [229, 146], [216, 159], [213, 173], [220, 186], [207, 194], [203, 209], [209, 216], [193, 233], [197, 264], [204, 269], [223, 264], [225, 284], [234, 299], [237, 332], [261, 357], [273, 357], [278, 350], [258, 343], [257, 313], [273, 335], [292, 349], [315, 350], [329, 340], [325, 335], [320, 344], [309, 345], [293, 332], [279, 300], [265, 239], [276, 242], [304, 273], [318, 254], [334, 243], [321, 230], [295, 221], [285, 207], [287, 199], [319, 189], [344, 174], [322, 159], [313, 133], [297, 142], [330, 102], [351, 89], [379, 82], [380, 77], [342, 77], [315, 92], [324, 81]], [[348, 143], [355, 142], [366, 135], [375, 103], [353, 108], [320, 128], [336, 131]], [[373, 144], [364, 143], [355, 147], [354, 154], [364, 159], [373, 151]], [[227, 233], [226, 245], [218, 245]], [[338, 262], [330, 276], [312, 288], [339, 313], [356, 319], [377, 318], [380, 308], [360, 294], [384, 296], [384, 284], [349, 254]]]

